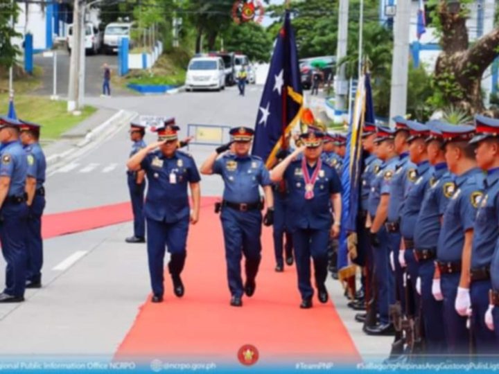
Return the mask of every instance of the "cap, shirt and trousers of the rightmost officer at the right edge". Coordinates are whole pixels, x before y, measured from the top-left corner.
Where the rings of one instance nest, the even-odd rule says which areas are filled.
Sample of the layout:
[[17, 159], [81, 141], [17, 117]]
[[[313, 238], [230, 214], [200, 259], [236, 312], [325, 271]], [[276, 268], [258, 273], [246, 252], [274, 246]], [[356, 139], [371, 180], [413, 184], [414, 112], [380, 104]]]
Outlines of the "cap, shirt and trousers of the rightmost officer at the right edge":
[[[475, 116], [476, 135], [471, 143], [499, 136], [499, 121]], [[471, 252], [471, 327], [478, 354], [496, 354], [499, 340], [487, 328], [484, 315], [489, 308], [491, 262], [499, 238], [499, 168], [487, 170], [484, 195], [478, 204]]]

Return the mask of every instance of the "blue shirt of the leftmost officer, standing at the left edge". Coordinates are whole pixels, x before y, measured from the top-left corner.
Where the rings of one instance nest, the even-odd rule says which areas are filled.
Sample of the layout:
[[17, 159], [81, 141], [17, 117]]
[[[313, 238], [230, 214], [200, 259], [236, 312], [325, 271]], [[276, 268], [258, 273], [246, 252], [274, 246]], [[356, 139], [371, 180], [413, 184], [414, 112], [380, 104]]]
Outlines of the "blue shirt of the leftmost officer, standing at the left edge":
[[26, 151], [19, 141], [5, 143], [1, 150], [0, 177], [10, 177], [7, 196], [23, 196], [28, 174]]

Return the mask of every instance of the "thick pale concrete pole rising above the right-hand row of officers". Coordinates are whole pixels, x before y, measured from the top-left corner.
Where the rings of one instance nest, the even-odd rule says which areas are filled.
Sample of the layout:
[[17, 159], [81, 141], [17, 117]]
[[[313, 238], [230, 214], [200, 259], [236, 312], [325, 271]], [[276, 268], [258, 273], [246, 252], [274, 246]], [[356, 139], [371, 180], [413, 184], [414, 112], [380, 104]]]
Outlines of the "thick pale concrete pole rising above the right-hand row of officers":
[[399, 0], [394, 19], [394, 53], [392, 59], [392, 89], [389, 121], [407, 111], [409, 73], [410, 0]]

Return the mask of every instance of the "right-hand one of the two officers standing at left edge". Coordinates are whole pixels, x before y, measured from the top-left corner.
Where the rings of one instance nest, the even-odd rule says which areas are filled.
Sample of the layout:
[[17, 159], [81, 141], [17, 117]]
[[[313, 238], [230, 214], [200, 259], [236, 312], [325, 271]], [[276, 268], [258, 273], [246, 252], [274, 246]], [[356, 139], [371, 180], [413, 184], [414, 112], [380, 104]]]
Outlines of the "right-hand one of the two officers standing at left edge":
[[45, 208], [45, 154], [40, 147], [40, 125], [21, 121], [21, 143], [28, 154], [28, 233], [26, 235], [26, 288], [42, 287], [43, 239], [42, 215]]

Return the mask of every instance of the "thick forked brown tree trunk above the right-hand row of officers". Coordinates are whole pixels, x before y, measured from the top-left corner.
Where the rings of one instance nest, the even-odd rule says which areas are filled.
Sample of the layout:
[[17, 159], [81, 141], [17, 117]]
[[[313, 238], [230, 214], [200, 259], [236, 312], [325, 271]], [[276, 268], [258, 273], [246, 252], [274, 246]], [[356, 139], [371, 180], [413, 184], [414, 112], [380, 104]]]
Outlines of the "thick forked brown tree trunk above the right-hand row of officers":
[[[442, 51], [435, 66], [435, 89], [446, 103], [469, 114], [484, 112], [480, 82], [487, 67], [499, 55], [499, 28], [473, 44], [469, 42], [466, 19], [471, 0], [432, 0], [432, 19], [440, 32]], [[474, 1], [473, 1], [474, 3]]]

